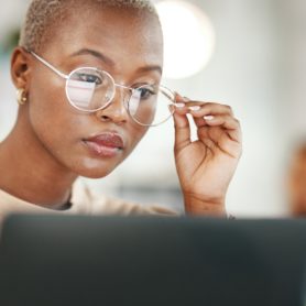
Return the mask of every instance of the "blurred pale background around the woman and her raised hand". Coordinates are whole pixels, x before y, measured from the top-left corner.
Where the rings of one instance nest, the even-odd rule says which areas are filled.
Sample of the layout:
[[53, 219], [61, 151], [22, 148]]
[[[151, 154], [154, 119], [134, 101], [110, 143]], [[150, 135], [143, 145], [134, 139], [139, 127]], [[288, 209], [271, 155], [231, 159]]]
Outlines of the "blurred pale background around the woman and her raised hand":
[[[0, 141], [15, 119], [10, 52], [29, 2], [0, 4]], [[229, 212], [287, 215], [288, 160], [294, 145], [306, 139], [306, 1], [155, 2], [166, 39], [164, 85], [190, 98], [230, 105], [241, 121], [243, 156], [229, 188]], [[152, 128], [118, 170], [87, 183], [98, 193], [183, 209], [173, 133], [171, 120]]]

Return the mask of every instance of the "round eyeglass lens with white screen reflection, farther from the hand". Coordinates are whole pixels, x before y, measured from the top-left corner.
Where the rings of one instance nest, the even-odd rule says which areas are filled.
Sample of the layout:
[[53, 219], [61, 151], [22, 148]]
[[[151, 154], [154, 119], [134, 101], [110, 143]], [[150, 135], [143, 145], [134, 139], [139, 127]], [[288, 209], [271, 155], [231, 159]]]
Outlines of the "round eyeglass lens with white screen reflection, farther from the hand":
[[95, 68], [78, 68], [70, 73], [66, 94], [72, 106], [83, 111], [107, 107], [114, 95], [112, 77]]

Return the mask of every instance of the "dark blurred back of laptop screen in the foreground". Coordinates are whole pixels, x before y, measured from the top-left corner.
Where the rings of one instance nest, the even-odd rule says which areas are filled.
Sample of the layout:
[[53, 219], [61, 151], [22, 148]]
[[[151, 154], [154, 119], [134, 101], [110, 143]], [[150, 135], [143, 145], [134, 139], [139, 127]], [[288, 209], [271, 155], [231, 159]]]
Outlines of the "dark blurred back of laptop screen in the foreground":
[[305, 263], [305, 220], [12, 216], [0, 305], [306, 305]]

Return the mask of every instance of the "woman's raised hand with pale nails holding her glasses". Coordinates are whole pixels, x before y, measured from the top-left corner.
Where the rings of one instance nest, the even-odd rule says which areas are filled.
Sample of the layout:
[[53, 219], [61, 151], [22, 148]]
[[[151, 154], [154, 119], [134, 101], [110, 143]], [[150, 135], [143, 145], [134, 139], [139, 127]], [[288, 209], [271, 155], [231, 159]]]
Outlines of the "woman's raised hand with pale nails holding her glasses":
[[[175, 163], [186, 212], [223, 216], [229, 183], [241, 156], [240, 123], [228, 106], [176, 97]], [[187, 113], [197, 128], [190, 140]]]

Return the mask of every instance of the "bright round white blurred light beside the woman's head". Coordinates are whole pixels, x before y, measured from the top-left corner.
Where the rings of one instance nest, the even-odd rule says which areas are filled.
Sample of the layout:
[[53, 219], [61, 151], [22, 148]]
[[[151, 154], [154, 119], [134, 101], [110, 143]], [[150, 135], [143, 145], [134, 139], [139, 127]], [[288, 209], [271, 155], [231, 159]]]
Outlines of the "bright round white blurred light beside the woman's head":
[[164, 33], [164, 76], [179, 79], [203, 70], [215, 50], [209, 18], [188, 1], [161, 1], [156, 8]]

